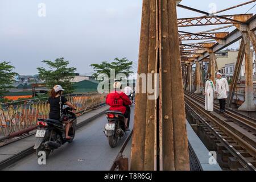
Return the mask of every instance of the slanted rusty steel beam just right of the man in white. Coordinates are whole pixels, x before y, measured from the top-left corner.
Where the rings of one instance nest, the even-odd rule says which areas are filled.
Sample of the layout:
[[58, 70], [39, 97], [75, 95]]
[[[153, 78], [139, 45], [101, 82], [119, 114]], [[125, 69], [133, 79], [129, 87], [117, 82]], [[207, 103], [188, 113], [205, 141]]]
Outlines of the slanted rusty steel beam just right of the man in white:
[[237, 87], [237, 81], [238, 81], [238, 78], [240, 76], [244, 56], [245, 56], [245, 42], [242, 39], [240, 49], [239, 49], [239, 52], [238, 52], [238, 56], [237, 56], [236, 68], [234, 69], [232, 84], [231, 84], [230, 90], [229, 90], [229, 97], [228, 97], [228, 100], [227, 100], [228, 107], [231, 107], [231, 105], [232, 105], [232, 101], [233, 101], [234, 93], [235, 93], [235, 90], [236, 90], [236, 87]]

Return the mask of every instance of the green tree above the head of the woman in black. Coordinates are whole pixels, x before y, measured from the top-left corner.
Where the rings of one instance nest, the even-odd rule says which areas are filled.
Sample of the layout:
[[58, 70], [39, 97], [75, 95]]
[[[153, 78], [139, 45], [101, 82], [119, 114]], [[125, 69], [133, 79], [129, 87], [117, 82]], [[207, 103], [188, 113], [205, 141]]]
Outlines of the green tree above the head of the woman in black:
[[39, 77], [46, 82], [47, 88], [53, 88], [55, 85], [63, 86], [65, 93], [73, 92], [71, 80], [75, 77], [76, 68], [68, 68], [69, 61], [65, 61], [63, 57], [53, 61], [44, 60], [42, 63], [48, 65], [50, 70], [46, 68], [38, 68]]

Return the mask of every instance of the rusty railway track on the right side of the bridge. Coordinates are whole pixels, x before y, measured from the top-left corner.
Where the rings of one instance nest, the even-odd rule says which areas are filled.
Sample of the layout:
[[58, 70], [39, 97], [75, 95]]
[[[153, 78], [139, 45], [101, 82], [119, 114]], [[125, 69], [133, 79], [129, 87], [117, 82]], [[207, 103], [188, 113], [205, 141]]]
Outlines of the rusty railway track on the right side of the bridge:
[[[255, 121], [228, 110], [217, 114], [204, 109], [204, 100], [185, 92], [187, 110], [200, 120], [205, 132], [211, 135], [219, 153], [227, 156], [230, 169], [256, 170], [256, 132]], [[217, 105], [214, 105], [217, 109]], [[217, 148], [217, 147], [216, 147]]]

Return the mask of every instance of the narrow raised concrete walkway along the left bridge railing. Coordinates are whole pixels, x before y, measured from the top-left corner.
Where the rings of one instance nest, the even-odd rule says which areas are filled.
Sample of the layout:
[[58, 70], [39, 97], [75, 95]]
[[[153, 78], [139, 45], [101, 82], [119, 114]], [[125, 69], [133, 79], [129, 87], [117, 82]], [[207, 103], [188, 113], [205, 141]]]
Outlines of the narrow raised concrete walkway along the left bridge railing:
[[[84, 125], [85, 123], [93, 121], [93, 119], [104, 114], [105, 111], [108, 109], [109, 109], [109, 106], [102, 106], [96, 110], [92, 110], [92, 111], [89, 111], [88, 113], [85, 113], [84, 115], [81, 115], [80, 117], [77, 118], [77, 125], [81, 126], [81, 125]], [[26, 137], [24, 139], [20, 139], [16, 142], [0, 147], [0, 163], [3, 160], [11, 158], [16, 154], [19, 154], [20, 152], [27, 150], [28, 148], [31, 148], [32, 146], [34, 146], [34, 144], [35, 144], [35, 135], [32, 135], [30, 137]]]

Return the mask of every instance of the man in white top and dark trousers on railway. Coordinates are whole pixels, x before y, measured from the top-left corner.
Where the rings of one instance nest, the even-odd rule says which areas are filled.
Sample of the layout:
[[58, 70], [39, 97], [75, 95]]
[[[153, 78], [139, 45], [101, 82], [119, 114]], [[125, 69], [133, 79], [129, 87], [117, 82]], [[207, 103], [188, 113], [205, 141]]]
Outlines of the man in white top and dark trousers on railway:
[[216, 94], [218, 101], [220, 102], [220, 112], [224, 113], [226, 107], [226, 98], [228, 98], [229, 84], [226, 78], [222, 78], [221, 73], [218, 72], [216, 77]]

